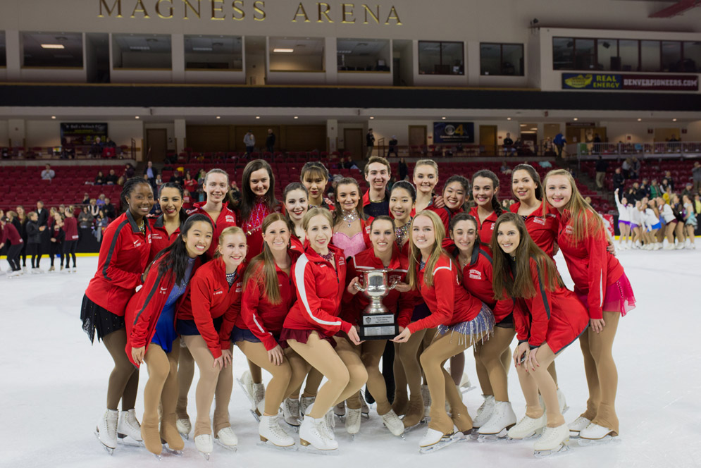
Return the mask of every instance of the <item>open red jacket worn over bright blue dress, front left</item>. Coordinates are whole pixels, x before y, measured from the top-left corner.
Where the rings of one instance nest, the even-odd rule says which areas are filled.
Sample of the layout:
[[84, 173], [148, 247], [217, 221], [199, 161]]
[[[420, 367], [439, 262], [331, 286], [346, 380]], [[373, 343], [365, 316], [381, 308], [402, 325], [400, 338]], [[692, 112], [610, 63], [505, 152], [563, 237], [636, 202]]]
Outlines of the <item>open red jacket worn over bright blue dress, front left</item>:
[[[151, 265], [144, 287], [131, 297], [124, 314], [124, 323], [127, 328], [127, 345], [124, 349], [127, 357], [136, 367], [139, 366], [132, 358], [132, 347], [145, 346], [146, 350], [149, 349], [149, 343], [151, 343], [151, 339], [154, 338], [156, 333], [156, 324], [161, 316], [161, 311], [175, 284], [170, 272], [163, 274], [159, 271], [161, 261], [163, 261], [163, 257], [157, 259]], [[201, 259], [197, 258], [194, 261], [194, 266], [192, 266], [192, 276], [194, 276], [200, 264]], [[190, 276], [191, 279], [192, 276]], [[182, 301], [185, 300], [185, 297], [187, 297], [191, 286], [192, 281], [187, 283], [185, 293], [178, 298], [178, 302], [175, 304], [176, 311], [182, 304]], [[177, 313], [175, 316], [177, 316]], [[173, 328], [175, 328], [175, 321], [173, 321]]]

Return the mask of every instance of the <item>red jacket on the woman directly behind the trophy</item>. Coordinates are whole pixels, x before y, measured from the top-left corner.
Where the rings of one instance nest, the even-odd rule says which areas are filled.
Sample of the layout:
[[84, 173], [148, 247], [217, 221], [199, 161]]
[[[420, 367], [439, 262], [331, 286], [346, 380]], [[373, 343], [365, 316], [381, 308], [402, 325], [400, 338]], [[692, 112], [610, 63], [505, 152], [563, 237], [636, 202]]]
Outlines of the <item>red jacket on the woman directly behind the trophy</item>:
[[[349, 259], [346, 271], [346, 286], [356, 276], [362, 277], [363, 272], [366, 270], [384, 268], [390, 270], [387, 272], [387, 284], [391, 285], [395, 281], [405, 283], [409, 269], [409, 259], [399, 252], [399, 248], [396, 245], [393, 245], [392, 259], [390, 259], [390, 264], [385, 267], [382, 260], [375, 257], [375, 249], [371, 247]], [[414, 312], [414, 294], [411, 291], [409, 293], [399, 293], [398, 290], [392, 289], [383, 297], [382, 303], [390, 313], [395, 314], [397, 325], [401, 327], [409, 325], [411, 314]], [[343, 305], [340, 316], [345, 321], [357, 325], [368, 304], [370, 304], [370, 299], [366, 295], [363, 293], [352, 295], [346, 288], [343, 293]]]

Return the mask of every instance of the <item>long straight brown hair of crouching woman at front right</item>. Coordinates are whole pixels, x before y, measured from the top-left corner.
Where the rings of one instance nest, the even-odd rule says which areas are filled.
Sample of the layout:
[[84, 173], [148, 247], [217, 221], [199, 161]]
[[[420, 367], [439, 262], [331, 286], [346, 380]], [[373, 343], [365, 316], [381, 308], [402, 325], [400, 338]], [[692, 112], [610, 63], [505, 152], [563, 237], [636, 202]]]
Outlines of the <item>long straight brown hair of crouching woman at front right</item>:
[[[519, 231], [519, 245], [512, 254], [504, 252], [499, 242], [497, 242], [499, 228], [503, 223], [514, 223], [516, 230]], [[531, 236], [528, 235], [526, 223], [523, 222], [521, 216], [510, 212], [502, 214], [495, 223], [494, 231], [497, 235], [492, 236], [490, 247], [492, 249], [492, 269], [494, 271], [492, 288], [495, 299], [535, 296], [536, 291], [533, 286], [533, 276], [531, 275], [531, 259], [535, 261], [538, 276], [543, 280], [547, 290], [554, 291], [557, 288], [562, 288], [564, 284], [559, 273], [557, 273], [555, 262], [533, 242]], [[516, 263], [516, 269], [513, 273], [511, 271], [511, 264], [514, 263], [514, 259], [511, 259], [512, 256], [515, 258]], [[542, 272], [545, 272], [545, 275]], [[506, 291], [507, 297], [504, 295], [504, 291]]]

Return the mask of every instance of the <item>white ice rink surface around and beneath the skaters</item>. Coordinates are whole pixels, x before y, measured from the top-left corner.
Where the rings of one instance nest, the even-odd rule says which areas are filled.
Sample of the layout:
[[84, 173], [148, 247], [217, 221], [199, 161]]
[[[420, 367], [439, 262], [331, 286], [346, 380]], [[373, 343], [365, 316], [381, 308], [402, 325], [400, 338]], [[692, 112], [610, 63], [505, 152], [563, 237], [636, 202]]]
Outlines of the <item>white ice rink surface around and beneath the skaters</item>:
[[[701, 250], [624, 251], [619, 259], [631, 280], [638, 307], [619, 324], [614, 357], [619, 371], [616, 407], [619, 441], [598, 447], [574, 445], [569, 452], [545, 459], [533, 457], [533, 441], [457, 443], [429, 455], [418, 453], [425, 429], [395, 438], [371, 408], [355, 441], [337, 421], [339, 455], [322, 456], [263, 448], [249, 402], [234, 386], [230, 403], [238, 452], [214, 445], [206, 462], [192, 438], [182, 456], [163, 455], [158, 462], [145, 448], [119, 445], [113, 456], [93, 435], [105, 410], [112, 361], [104, 345], [91, 346], [80, 328], [80, 304], [97, 257], [78, 259], [80, 273], [0, 276], [3, 324], [0, 359], [1, 467], [693, 467], [701, 466]], [[571, 287], [564, 259], [559, 270]], [[44, 269], [49, 262], [42, 261]], [[2, 269], [7, 268], [2, 261]], [[478, 385], [474, 359], [467, 353], [466, 371]], [[559, 386], [570, 410], [570, 422], [587, 399], [578, 343], [557, 359]], [[247, 369], [236, 350], [234, 374]], [[268, 378], [263, 372], [264, 378]], [[190, 390], [194, 422], [195, 384]], [[142, 369], [137, 416], [143, 414]], [[509, 396], [519, 419], [525, 411], [516, 371], [509, 372]], [[474, 416], [482, 402], [478, 388], [464, 396]], [[287, 427], [287, 426], [285, 426]], [[299, 439], [297, 439], [299, 441]]]

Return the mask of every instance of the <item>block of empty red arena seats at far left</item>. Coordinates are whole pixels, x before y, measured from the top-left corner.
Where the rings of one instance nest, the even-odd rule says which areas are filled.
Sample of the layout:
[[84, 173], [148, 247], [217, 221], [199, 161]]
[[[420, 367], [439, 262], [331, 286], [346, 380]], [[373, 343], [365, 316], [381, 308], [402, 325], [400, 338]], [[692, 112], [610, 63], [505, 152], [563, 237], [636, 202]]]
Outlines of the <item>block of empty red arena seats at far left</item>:
[[[60, 204], [80, 204], [85, 193], [97, 198], [104, 193], [111, 203], [120, 209], [120, 185], [90, 185], [94, 183], [98, 171], [104, 174], [114, 169], [118, 176], [124, 172], [124, 165], [114, 166], [51, 166], [56, 172], [53, 180], [42, 180], [44, 166], [3, 166], [0, 168], [0, 209], [15, 209], [23, 205], [25, 209], [35, 209], [37, 200], [46, 207]], [[88, 183], [88, 184], [86, 184]]]

